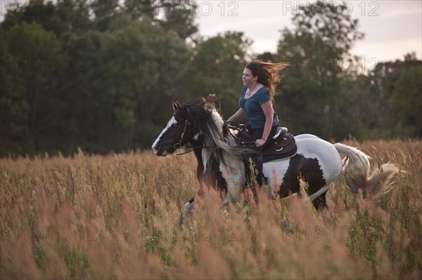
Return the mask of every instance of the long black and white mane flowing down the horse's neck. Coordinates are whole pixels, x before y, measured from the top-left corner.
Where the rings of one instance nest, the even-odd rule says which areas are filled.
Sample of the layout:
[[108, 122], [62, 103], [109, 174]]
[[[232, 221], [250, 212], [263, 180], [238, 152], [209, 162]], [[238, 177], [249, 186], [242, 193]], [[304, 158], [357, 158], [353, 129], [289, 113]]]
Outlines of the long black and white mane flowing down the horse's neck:
[[193, 131], [203, 134], [203, 145], [207, 147], [202, 151], [205, 170], [213, 159], [227, 165], [233, 159], [240, 160], [242, 154], [252, 152], [238, 147], [236, 139], [229, 133], [229, 127], [215, 108], [214, 102], [217, 100], [215, 95], [198, 97], [181, 105], [179, 109], [179, 114], [190, 121]]

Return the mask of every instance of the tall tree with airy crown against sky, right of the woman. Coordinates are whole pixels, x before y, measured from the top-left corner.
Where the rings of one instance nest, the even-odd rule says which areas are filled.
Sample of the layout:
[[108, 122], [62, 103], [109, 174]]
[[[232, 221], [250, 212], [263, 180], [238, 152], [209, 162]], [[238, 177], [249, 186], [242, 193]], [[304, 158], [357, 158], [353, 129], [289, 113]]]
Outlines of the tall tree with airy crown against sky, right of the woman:
[[350, 115], [353, 121], [356, 115], [352, 84], [357, 75], [342, 63], [353, 61], [350, 48], [364, 34], [346, 9], [346, 4], [325, 1], [301, 6], [293, 15], [293, 29], [281, 32], [273, 59], [291, 66], [286, 68], [276, 109], [294, 133], [343, 138], [352, 129], [350, 121], [338, 125], [339, 118]]

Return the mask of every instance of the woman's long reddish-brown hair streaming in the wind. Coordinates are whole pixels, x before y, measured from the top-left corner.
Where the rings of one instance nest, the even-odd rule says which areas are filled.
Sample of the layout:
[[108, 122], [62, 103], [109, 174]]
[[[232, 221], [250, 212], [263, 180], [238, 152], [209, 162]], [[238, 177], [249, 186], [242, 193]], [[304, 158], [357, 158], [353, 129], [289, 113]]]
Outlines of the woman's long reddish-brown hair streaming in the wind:
[[260, 83], [267, 88], [269, 96], [271, 97], [271, 102], [274, 103], [276, 86], [281, 81], [281, 78], [283, 78], [283, 74], [279, 74], [279, 71], [287, 66], [290, 66], [290, 63], [269, 63], [253, 60], [249, 62], [245, 68], [250, 69], [253, 76], [258, 76], [257, 83]]

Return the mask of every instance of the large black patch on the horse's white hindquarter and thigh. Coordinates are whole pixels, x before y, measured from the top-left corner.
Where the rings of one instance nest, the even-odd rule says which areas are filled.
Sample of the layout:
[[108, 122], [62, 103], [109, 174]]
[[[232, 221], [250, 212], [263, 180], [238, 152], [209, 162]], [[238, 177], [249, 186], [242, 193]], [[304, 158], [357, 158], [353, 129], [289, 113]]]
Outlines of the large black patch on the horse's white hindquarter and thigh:
[[[299, 192], [299, 178], [307, 182], [308, 194], [313, 194], [326, 185], [318, 159], [309, 159], [302, 154], [296, 154], [290, 159], [287, 171], [283, 176], [283, 183], [279, 191], [281, 198]], [[325, 193], [315, 199], [313, 204], [315, 208], [325, 206]]]

